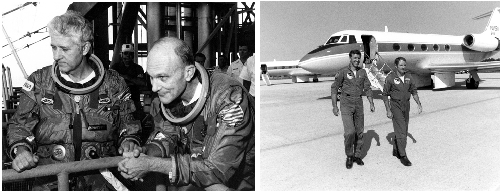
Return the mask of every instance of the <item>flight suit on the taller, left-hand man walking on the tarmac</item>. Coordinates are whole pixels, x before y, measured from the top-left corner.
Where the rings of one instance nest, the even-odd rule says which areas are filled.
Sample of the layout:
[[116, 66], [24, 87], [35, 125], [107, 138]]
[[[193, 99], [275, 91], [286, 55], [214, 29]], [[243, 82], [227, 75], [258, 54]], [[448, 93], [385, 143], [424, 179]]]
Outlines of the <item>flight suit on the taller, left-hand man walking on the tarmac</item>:
[[[349, 64], [351, 65], [351, 64]], [[342, 88], [340, 112], [344, 124], [344, 145], [347, 156], [360, 157], [363, 147], [364, 113], [363, 90], [367, 97], [372, 96], [371, 83], [366, 71], [359, 68], [354, 74], [350, 66], [339, 70], [337, 78], [331, 84], [331, 93], [337, 93]], [[354, 151], [356, 150], [356, 151]]]

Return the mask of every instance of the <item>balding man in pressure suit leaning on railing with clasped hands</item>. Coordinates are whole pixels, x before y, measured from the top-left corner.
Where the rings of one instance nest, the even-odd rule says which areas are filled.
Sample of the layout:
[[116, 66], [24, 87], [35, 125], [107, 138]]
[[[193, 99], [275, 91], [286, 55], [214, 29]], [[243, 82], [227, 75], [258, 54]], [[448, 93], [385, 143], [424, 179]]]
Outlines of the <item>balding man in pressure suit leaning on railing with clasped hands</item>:
[[[254, 190], [254, 107], [237, 80], [214, 72], [201, 82], [184, 41], [164, 37], [156, 41], [147, 59], [155, 129], [139, 157], [124, 155], [121, 174], [138, 180], [148, 172], [169, 174], [180, 190]], [[205, 69], [201, 69], [205, 70]], [[210, 86], [209, 92], [202, 88]], [[175, 117], [195, 110], [208, 95], [202, 111], [189, 122], [174, 123], [162, 116], [161, 105]], [[207, 188], [221, 185], [221, 188]], [[228, 188], [229, 187], [229, 188]]]

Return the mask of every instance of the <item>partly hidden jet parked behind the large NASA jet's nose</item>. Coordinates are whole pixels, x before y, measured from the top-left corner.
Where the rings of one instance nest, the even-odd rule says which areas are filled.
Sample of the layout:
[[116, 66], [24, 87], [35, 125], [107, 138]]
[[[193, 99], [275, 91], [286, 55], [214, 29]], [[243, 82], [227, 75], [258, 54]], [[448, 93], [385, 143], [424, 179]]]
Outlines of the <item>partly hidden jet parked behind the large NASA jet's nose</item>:
[[[299, 67], [299, 61], [271, 61], [271, 62], [261, 62], [260, 70], [262, 74], [267, 74], [268, 76], [291, 76], [292, 82], [309, 82], [312, 77], [313, 82], [318, 82], [318, 75], [311, 73]], [[264, 78], [265, 79], [265, 78]], [[267, 84], [267, 81], [266, 81]]]

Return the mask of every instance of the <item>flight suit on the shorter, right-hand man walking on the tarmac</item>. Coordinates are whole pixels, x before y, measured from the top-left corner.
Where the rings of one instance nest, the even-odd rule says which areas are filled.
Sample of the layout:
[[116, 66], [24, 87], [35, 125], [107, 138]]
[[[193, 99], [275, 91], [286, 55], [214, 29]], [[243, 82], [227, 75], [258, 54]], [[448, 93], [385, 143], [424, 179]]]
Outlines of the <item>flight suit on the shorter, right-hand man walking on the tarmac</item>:
[[401, 157], [406, 156], [406, 136], [408, 135], [408, 122], [410, 120], [410, 94], [417, 95], [415, 81], [410, 75], [405, 75], [404, 80], [397, 77], [395, 73], [385, 78], [382, 97], [385, 102], [389, 100], [388, 96], [391, 96], [390, 105], [396, 137], [393, 149], [398, 150]]

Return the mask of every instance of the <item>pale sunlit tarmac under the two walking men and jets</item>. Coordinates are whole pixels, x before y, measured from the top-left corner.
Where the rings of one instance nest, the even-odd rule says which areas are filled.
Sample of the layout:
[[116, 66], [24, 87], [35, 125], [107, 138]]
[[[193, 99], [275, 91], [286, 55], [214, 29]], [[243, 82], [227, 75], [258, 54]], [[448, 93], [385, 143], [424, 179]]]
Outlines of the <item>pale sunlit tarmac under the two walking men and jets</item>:
[[[364, 102], [364, 166], [346, 169], [342, 119], [332, 114], [333, 78], [260, 82], [261, 190], [500, 190], [500, 73], [479, 73], [477, 90], [419, 88], [413, 98], [406, 167], [392, 156], [391, 119], [381, 91]], [[376, 95], [375, 95], [376, 94]]]

